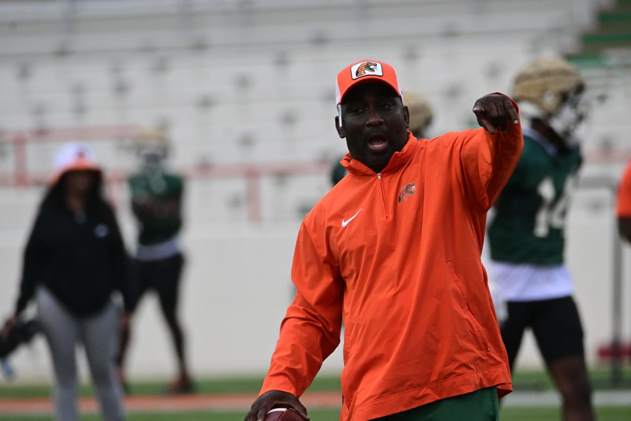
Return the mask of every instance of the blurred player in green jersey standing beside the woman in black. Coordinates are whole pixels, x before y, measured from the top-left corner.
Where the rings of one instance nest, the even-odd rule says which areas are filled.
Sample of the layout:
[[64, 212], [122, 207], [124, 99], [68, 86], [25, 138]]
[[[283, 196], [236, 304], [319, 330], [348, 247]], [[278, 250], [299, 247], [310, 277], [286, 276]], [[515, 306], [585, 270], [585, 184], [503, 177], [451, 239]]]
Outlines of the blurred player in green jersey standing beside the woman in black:
[[[147, 290], [155, 290], [158, 294], [179, 368], [179, 375], [168, 386], [167, 392], [189, 393], [192, 391], [192, 382], [186, 365], [184, 333], [177, 316], [180, 275], [184, 265], [178, 241], [182, 227], [184, 180], [165, 169], [168, 140], [162, 131], [146, 131], [137, 141], [141, 168], [138, 174], [129, 178], [131, 207], [139, 226], [138, 250], [134, 259], [137, 294], [133, 307], [138, 305]], [[126, 317], [122, 323], [121, 347], [117, 359], [119, 375], [123, 380], [129, 336], [129, 317]]]

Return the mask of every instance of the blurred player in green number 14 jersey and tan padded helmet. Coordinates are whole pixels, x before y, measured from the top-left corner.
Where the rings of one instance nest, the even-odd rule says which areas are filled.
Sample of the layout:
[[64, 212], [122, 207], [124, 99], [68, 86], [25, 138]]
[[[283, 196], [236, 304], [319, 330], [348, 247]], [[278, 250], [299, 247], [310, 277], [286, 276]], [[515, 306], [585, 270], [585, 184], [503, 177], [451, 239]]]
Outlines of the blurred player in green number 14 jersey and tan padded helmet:
[[584, 88], [581, 74], [562, 59], [536, 59], [517, 74], [513, 97], [524, 151], [488, 228], [492, 273], [507, 305], [500, 326], [510, 367], [524, 329], [533, 329], [562, 394], [564, 420], [594, 419], [581, 320], [563, 259], [563, 227], [582, 161], [576, 129]]

